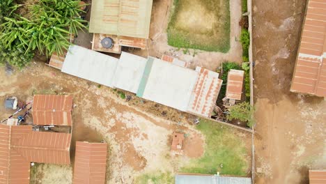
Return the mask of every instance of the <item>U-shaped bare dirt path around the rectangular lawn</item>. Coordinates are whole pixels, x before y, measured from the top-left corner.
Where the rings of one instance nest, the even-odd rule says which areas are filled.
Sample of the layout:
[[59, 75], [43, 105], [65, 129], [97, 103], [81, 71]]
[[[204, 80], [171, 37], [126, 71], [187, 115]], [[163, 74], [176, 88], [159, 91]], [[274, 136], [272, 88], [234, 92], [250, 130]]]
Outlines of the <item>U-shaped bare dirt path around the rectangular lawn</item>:
[[189, 49], [188, 54], [183, 53], [183, 49], [171, 47], [167, 44], [166, 29], [169, 23], [170, 9], [173, 0], [154, 0], [152, 18], [150, 24], [150, 39], [148, 40], [147, 50], [135, 50], [134, 54], [141, 56], [162, 56], [169, 54], [178, 59], [189, 62], [190, 68], [201, 66], [209, 70], [216, 70], [222, 61], [234, 61], [242, 63], [242, 47], [238, 41], [240, 39], [241, 27], [241, 0], [230, 1], [231, 10], [231, 48], [224, 54], [220, 52], [203, 52]]

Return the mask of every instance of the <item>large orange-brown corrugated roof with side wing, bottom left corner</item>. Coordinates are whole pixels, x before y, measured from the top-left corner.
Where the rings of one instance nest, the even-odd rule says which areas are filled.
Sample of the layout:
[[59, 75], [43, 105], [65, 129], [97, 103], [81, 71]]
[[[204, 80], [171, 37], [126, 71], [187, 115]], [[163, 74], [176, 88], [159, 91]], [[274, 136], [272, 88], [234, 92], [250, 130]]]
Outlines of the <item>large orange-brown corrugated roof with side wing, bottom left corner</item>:
[[30, 162], [70, 164], [70, 134], [0, 125], [0, 183], [29, 183]]

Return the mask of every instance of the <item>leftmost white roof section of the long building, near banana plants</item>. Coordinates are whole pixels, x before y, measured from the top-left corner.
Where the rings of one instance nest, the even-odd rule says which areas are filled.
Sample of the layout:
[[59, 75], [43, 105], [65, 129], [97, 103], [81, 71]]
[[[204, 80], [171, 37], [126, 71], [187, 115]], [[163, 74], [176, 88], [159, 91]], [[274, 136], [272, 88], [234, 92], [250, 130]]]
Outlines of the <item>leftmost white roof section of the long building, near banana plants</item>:
[[104, 86], [113, 87], [112, 82], [118, 59], [91, 49], [72, 45], [69, 47], [62, 72], [87, 79]]

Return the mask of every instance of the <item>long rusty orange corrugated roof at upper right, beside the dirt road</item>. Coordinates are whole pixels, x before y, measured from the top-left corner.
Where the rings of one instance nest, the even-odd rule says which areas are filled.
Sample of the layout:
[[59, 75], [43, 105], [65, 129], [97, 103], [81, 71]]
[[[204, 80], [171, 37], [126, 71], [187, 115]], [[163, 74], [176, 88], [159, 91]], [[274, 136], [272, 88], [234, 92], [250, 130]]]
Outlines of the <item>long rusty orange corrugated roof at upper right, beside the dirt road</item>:
[[310, 0], [290, 91], [326, 97], [326, 1]]

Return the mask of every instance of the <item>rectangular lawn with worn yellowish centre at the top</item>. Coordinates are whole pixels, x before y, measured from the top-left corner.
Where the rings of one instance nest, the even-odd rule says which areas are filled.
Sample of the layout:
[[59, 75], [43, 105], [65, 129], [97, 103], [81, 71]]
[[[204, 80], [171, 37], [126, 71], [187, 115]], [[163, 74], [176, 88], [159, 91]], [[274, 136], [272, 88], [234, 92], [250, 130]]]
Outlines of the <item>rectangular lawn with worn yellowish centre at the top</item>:
[[229, 0], [174, 0], [173, 7], [167, 30], [169, 45], [228, 52]]

